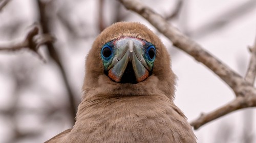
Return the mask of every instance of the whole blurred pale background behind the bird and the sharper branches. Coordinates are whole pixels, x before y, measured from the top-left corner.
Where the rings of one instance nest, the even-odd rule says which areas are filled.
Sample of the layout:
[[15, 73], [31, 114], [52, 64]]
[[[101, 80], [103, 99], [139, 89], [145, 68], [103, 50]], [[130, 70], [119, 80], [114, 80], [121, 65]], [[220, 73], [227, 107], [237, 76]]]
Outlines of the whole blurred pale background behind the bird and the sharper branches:
[[[0, 5], [5, 0], [0, 0]], [[255, 0], [143, 1], [231, 69], [244, 76], [256, 36]], [[29, 49], [0, 50], [0, 142], [44, 142], [74, 125], [84, 61], [96, 36], [117, 21], [151, 28], [172, 56], [178, 76], [175, 103], [188, 118], [212, 111], [235, 96], [204, 65], [139, 15], [110, 0], [10, 0], [0, 9], [0, 47], [25, 39], [33, 25], [56, 42]], [[256, 142], [256, 108], [214, 120], [195, 131], [198, 142]]]

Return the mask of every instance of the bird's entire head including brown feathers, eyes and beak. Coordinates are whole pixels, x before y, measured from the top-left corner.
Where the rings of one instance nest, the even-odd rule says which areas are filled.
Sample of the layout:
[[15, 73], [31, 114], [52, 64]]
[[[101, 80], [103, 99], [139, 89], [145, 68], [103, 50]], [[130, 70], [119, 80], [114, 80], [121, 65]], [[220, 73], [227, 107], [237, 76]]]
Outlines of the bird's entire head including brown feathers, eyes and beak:
[[96, 38], [87, 56], [84, 96], [164, 94], [174, 98], [175, 74], [161, 40], [138, 22], [117, 22]]

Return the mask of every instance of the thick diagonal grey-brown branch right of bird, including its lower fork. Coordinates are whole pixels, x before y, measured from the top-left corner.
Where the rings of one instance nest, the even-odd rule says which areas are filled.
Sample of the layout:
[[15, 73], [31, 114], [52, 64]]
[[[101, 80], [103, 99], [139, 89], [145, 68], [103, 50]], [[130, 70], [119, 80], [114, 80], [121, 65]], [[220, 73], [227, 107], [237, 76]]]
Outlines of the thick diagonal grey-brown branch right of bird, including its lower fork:
[[227, 115], [227, 113], [234, 110], [256, 106], [256, 89], [243, 77], [204, 50], [198, 43], [183, 35], [176, 27], [169, 24], [151, 8], [136, 0], [119, 0], [119, 2], [121, 2], [126, 9], [132, 10], [144, 17], [148, 22], [154, 25], [159, 32], [171, 40], [173, 45], [177, 48], [185, 51], [197, 61], [207, 66], [236, 93], [237, 98], [232, 102], [215, 111], [202, 114], [201, 117], [191, 122], [191, 125], [194, 126], [195, 129], [221, 116]]

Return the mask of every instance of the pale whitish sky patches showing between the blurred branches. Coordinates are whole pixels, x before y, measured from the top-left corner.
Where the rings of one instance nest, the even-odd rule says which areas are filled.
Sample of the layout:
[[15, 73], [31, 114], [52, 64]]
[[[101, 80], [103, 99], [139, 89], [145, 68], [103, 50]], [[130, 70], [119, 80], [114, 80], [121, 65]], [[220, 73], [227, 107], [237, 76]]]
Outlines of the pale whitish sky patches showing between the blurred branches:
[[[176, 1], [143, 1], [148, 6], [154, 6], [156, 12], [161, 15], [171, 13], [175, 7]], [[256, 37], [256, 3], [252, 3], [254, 8], [248, 9], [245, 14], [237, 18], [225, 17], [223, 13], [239, 7], [245, 3], [251, 2], [239, 0], [227, 1], [184, 1], [183, 8], [177, 20], [172, 21], [183, 32], [193, 31], [191, 35], [195, 41], [202, 45], [212, 55], [216, 56], [231, 69], [244, 76], [248, 67], [250, 53], [248, 46], [252, 45]], [[112, 1], [106, 1], [104, 19], [106, 24], [110, 25], [113, 17]], [[84, 59], [91, 45], [98, 35], [98, 1], [76, 0], [76, 1], [57, 1], [56, 9], [68, 9], [65, 13], [69, 20], [75, 26], [81, 35], [90, 35], [86, 38], [72, 38], [68, 32], [63, 29], [60, 21], [57, 21], [54, 27], [54, 35], [57, 37], [56, 47], [61, 53], [61, 61], [65, 63], [65, 70], [68, 73], [68, 79], [72, 85], [72, 90], [77, 94], [77, 102], [80, 100], [81, 85], [84, 76]], [[12, 0], [3, 11], [0, 12], [0, 45], [8, 43], [12, 39], [22, 40], [29, 26], [36, 20], [35, 0]], [[126, 21], [140, 21], [150, 27], [157, 33], [166, 45], [166, 48], [172, 56], [172, 68], [178, 77], [176, 91], [176, 105], [182, 109], [188, 118], [192, 121], [200, 116], [201, 112], [210, 112], [216, 108], [228, 103], [234, 99], [231, 89], [218, 76], [208, 70], [204, 65], [191, 58], [183, 51], [172, 46], [171, 42], [156, 29], [141, 18], [139, 15], [131, 12], [126, 17]], [[132, 13], [132, 14], [131, 14]], [[214, 32], [197, 36], [197, 30], [207, 23], [214, 23], [217, 20], [227, 21], [227, 24], [217, 28]], [[8, 26], [15, 22], [22, 21], [19, 27], [13, 28], [12, 36], [8, 33]], [[11, 26], [10, 26], [11, 27]], [[89, 27], [89, 28], [88, 28]], [[11, 31], [11, 30], [10, 30]], [[40, 52], [49, 61], [45, 47], [40, 48]], [[27, 64], [19, 64], [27, 63]], [[62, 106], [68, 104], [66, 89], [55, 65], [48, 62], [42, 63], [38, 57], [28, 50], [17, 52], [0, 51], [0, 109], [8, 108], [14, 101], [13, 91], [15, 80], [9, 73], [13, 67], [24, 66], [26, 76], [30, 77], [32, 85], [29, 89], [23, 89], [18, 93], [18, 107], [37, 109], [38, 113], [20, 112], [15, 118], [18, 119], [18, 126], [24, 131], [39, 130], [41, 134], [37, 137], [25, 138], [17, 142], [43, 142], [59, 132], [72, 127], [69, 117], [60, 112], [55, 119], [44, 119], [41, 112], [44, 112], [49, 105]], [[53, 96], [54, 95], [54, 96]], [[46, 104], [48, 103], [48, 104]], [[247, 109], [253, 113], [256, 120], [256, 108]], [[195, 131], [198, 142], [218, 142], [217, 135], [225, 130], [226, 126], [231, 128], [228, 142], [242, 142], [242, 131], [244, 123], [244, 110], [239, 110], [228, 114], [222, 118], [212, 121], [199, 130]], [[12, 122], [0, 113], [0, 142], [5, 143], [12, 137]], [[254, 122], [251, 134], [256, 141], [256, 123]]]

